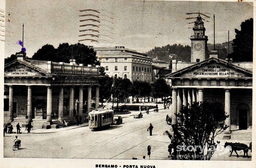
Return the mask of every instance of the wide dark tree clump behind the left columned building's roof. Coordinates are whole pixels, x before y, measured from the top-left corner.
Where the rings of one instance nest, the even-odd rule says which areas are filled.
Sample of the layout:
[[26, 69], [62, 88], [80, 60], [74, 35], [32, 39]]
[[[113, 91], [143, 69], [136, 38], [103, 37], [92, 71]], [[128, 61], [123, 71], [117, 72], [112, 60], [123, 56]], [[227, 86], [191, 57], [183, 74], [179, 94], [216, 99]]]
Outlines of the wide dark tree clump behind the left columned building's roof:
[[55, 49], [52, 45], [44, 45], [32, 56], [34, 60], [48, 60], [53, 62], [65, 62], [69, 63], [70, 59], [76, 59], [77, 64], [84, 64], [87, 66], [99, 65], [97, 60], [96, 51], [93, 48], [89, 48], [84, 44], [69, 45], [68, 43], [62, 43]]

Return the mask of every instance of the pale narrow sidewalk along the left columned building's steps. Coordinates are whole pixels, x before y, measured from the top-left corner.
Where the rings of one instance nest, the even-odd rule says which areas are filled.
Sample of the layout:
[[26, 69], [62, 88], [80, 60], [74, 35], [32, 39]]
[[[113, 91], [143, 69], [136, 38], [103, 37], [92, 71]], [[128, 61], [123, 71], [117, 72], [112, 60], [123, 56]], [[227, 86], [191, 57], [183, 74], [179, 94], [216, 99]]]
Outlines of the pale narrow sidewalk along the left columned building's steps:
[[[89, 123], [86, 122], [86, 123], [82, 123], [80, 125], [71, 125], [71, 126], [66, 126], [65, 128], [58, 128], [58, 129], [54, 129], [54, 128], [52, 128], [52, 129], [33, 129], [33, 130], [30, 130], [30, 134], [57, 133], [57, 132], [71, 130], [71, 129], [75, 129], [75, 128], [79, 128], [79, 127], [85, 127], [88, 125], [89, 125]], [[25, 128], [22, 128], [21, 134], [29, 134], [29, 133], [28, 133], [28, 131], [25, 131]], [[12, 134], [5, 134], [5, 135], [16, 136], [17, 133], [16, 133], [16, 131], [14, 131]]]

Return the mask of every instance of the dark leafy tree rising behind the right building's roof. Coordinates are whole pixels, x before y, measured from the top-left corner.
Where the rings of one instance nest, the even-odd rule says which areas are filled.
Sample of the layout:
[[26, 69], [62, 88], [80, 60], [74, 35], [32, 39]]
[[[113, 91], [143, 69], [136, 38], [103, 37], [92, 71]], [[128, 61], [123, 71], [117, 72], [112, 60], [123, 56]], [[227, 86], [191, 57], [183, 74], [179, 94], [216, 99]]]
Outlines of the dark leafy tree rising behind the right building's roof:
[[250, 61], [253, 57], [253, 18], [241, 23], [241, 30], [235, 29], [236, 38], [233, 39], [233, 61]]

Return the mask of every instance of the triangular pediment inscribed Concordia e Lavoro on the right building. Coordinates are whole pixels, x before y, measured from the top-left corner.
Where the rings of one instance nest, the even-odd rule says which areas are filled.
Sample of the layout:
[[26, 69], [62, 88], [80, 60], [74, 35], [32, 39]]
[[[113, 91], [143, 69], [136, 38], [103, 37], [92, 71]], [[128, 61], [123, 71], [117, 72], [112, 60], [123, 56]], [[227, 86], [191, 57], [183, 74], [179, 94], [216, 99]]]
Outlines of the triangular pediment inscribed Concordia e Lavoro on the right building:
[[217, 58], [209, 58], [166, 75], [166, 78], [240, 78], [252, 77], [252, 71]]

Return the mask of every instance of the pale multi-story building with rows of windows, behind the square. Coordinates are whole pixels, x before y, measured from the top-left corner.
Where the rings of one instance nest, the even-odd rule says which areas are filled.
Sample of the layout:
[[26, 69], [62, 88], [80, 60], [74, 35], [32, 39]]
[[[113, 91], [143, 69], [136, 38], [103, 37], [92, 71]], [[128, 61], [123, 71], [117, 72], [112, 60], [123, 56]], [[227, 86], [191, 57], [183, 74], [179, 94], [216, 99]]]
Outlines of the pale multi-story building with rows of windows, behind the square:
[[153, 60], [147, 54], [126, 49], [124, 46], [97, 47], [94, 50], [107, 75], [131, 81], [152, 81]]

